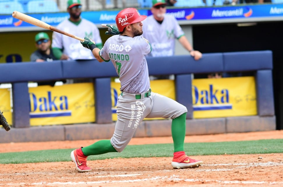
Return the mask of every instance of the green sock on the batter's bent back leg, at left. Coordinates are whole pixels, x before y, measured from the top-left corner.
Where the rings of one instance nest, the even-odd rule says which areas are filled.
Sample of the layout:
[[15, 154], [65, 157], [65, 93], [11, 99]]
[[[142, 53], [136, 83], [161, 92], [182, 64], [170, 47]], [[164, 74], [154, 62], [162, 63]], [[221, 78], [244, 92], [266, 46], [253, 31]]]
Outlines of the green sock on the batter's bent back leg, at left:
[[118, 152], [111, 145], [110, 140], [100, 140], [98, 142], [95, 142], [92, 145], [89, 145], [87, 147], [83, 147], [82, 151], [83, 151], [85, 156], [100, 155], [100, 154], [105, 154], [105, 153], [109, 153], [109, 152]]

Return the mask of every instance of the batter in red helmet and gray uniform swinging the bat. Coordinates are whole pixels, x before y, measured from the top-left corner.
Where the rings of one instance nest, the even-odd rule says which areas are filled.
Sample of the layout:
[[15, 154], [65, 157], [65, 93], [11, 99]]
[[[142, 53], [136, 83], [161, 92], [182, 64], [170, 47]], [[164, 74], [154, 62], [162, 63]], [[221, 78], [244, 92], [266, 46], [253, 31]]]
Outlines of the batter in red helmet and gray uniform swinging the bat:
[[[145, 15], [135, 8], [125, 8], [116, 15], [120, 32], [108, 38], [100, 50], [93, 41], [84, 37], [82, 45], [91, 50], [99, 61], [111, 61], [121, 82], [121, 95], [117, 100], [117, 121], [110, 140], [100, 140], [71, 152], [71, 159], [79, 172], [91, 171], [86, 165], [87, 156], [121, 152], [144, 118], [172, 119], [174, 142], [173, 168], [198, 167], [201, 160], [189, 158], [184, 151], [187, 108], [175, 100], [154, 93], [150, 88], [146, 55], [151, 45], [142, 35]], [[112, 26], [109, 26], [111, 33]]]

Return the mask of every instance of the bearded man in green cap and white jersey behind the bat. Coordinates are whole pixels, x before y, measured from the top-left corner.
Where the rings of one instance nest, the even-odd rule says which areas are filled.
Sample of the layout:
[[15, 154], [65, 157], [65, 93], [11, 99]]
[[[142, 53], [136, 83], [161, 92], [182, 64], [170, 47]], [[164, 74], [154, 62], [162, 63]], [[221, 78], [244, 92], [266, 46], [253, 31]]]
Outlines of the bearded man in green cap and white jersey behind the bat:
[[[80, 0], [68, 0], [67, 7], [70, 18], [58, 24], [57, 28], [81, 38], [88, 36], [96, 46], [102, 48], [100, 32], [96, 25], [81, 17], [82, 4]], [[95, 59], [91, 51], [82, 47], [79, 40], [57, 32], [53, 32], [52, 35], [52, 48], [57, 59]]]

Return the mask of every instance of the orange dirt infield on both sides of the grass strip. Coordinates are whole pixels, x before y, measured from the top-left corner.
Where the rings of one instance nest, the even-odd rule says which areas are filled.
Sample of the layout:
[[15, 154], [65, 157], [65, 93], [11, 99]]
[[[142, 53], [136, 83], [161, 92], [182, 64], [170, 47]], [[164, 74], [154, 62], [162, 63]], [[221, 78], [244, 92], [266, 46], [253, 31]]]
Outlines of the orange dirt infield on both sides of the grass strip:
[[[282, 139], [283, 131], [187, 136], [185, 142]], [[68, 149], [97, 140], [3, 143], [0, 152]], [[130, 144], [171, 143], [171, 137], [133, 138]], [[188, 151], [186, 151], [189, 154]], [[79, 173], [69, 162], [0, 164], [0, 186], [283, 186], [283, 153], [193, 156], [204, 164], [172, 169], [171, 158], [115, 158], [88, 161], [92, 172]]]

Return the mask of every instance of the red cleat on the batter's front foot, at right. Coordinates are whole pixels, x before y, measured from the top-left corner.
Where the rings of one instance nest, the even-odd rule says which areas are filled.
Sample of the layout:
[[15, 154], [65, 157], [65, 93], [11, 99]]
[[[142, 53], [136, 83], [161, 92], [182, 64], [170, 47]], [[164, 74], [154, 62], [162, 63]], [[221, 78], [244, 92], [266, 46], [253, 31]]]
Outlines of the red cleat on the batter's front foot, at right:
[[[182, 154], [182, 155], [176, 157], [175, 155], [178, 155], [178, 154]], [[199, 167], [200, 164], [202, 163], [204, 162], [201, 160], [194, 160], [192, 158], [189, 158], [187, 155], [185, 155], [184, 151], [178, 151], [174, 153], [174, 158], [172, 160], [172, 167], [177, 168], [177, 169], [187, 168], [187, 167], [193, 168], [193, 167]]]

